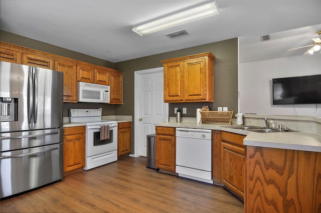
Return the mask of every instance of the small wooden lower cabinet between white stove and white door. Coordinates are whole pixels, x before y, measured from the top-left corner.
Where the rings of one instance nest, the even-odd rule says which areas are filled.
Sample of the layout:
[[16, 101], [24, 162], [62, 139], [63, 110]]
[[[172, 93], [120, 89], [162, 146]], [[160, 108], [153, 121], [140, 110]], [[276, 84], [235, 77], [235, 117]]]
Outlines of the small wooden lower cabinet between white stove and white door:
[[118, 123], [118, 157], [131, 152], [131, 122]]

